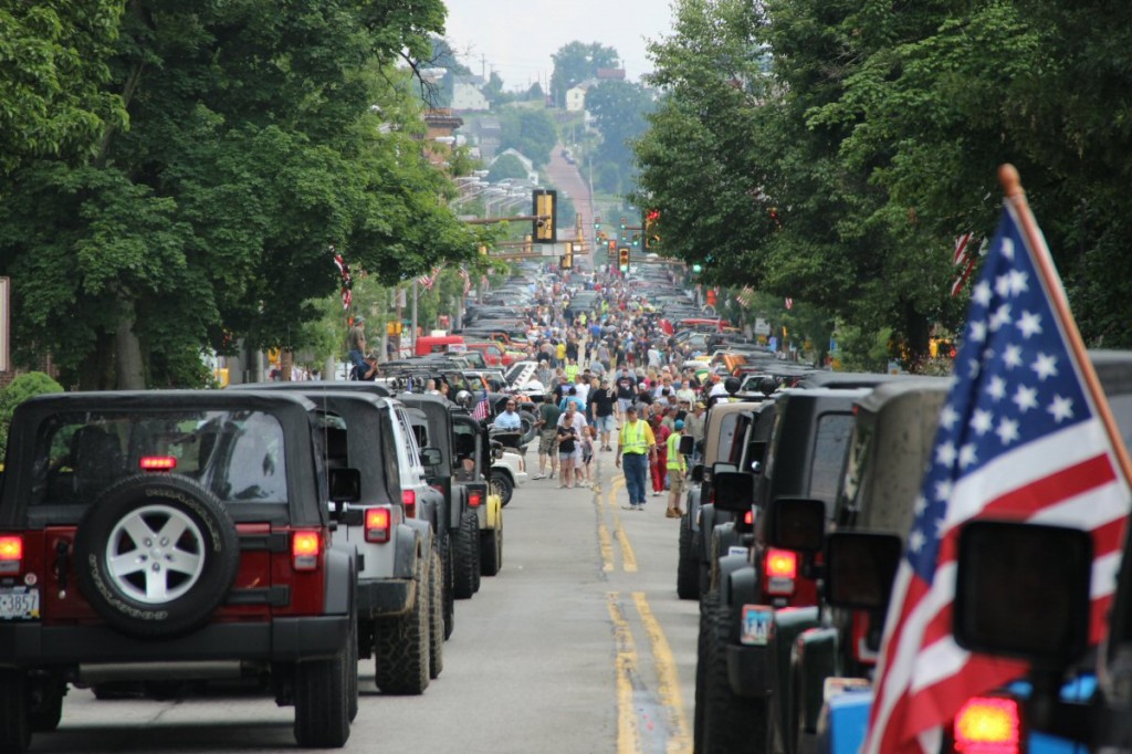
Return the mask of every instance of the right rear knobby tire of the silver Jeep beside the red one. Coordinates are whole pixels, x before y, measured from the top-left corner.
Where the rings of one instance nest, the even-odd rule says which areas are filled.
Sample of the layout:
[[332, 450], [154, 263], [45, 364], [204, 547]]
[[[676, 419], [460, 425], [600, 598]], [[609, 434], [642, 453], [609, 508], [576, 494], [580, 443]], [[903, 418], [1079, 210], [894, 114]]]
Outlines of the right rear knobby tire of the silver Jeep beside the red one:
[[409, 611], [374, 624], [374, 683], [385, 694], [423, 694], [429, 682], [428, 569], [418, 558]]

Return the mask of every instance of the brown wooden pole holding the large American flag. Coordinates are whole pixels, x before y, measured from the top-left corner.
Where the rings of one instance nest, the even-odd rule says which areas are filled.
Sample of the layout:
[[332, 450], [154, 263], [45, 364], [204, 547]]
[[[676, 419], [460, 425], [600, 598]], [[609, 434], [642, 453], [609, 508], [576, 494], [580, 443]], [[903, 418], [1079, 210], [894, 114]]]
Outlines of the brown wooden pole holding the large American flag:
[[1053, 303], [1054, 311], [1061, 318], [1062, 326], [1065, 328], [1065, 335], [1069, 337], [1069, 346], [1073, 350], [1073, 355], [1081, 366], [1081, 376], [1084, 378], [1084, 384], [1092, 396], [1094, 405], [1097, 406], [1097, 413], [1105, 427], [1105, 432], [1108, 435], [1108, 442], [1113, 446], [1116, 462], [1121, 466], [1121, 473], [1124, 474], [1124, 480], [1132, 485], [1132, 460], [1129, 459], [1127, 448], [1124, 447], [1124, 440], [1121, 438], [1120, 429], [1116, 427], [1116, 420], [1108, 408], [1108, 400], [1105, 397], [1105, 391], [1100, 386], [1097, 370], [1092, 368], [1092, 361], [1089, 359], [1089, 353], [1084, 348], [1081, 332], [1077, 328], [1077, 320], [1073, 319], [1073, 314], [1070, 311], [1069, 300], [1065, 298], [1065, 289], [1062, 288], [1061, 277], [1054, 268], [1049, 247], [1046, 246], [1046, 239], [1041, 234], [1041, 231], [1038, 230], [1038, 223], [1030, 212], [1030, 205], [1026, 200], [1026, 191], [1022, 189], [1022, 182], [1014, 165], [1006, 163], [1000, 166], [998, 181], [1006, 194], [1006, 200], [1010, 202], [1018, 214], [1018, 220], [1022, 226], [1022, 233], [1026, 235], [1027, 242], [1035, 251], [1034, 264], [1037, 266], [1038, 274], [1041, 275], [1046, 284], [1046, 290], [1049, 291], [1050, 303]]

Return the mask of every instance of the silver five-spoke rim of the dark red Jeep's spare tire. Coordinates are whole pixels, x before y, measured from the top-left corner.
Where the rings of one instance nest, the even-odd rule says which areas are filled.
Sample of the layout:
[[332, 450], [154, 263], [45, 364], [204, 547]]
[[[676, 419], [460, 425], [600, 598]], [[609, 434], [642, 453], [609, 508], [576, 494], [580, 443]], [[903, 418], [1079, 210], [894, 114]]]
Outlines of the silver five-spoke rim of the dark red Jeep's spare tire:
[[183, 596], [200, 580], [205, 537], [181, 511], [147, 505], [118, 522], [106, 542], [106, 572], [123, 594], [146, 605]]

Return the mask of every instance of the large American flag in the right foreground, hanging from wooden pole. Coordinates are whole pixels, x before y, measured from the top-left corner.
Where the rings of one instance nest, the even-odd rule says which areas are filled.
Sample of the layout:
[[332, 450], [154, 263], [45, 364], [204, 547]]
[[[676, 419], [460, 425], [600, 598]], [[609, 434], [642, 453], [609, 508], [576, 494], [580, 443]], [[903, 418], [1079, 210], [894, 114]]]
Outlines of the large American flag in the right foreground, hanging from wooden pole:
[[1026, 672], [1020, 662], [971, 654], [951, 636], [964, 522], [1005, 517], [1091, 531], [1095, 642], [1112, 602], [1129, 485], [1086, 387], [1091, 367], [1073, 355], [1075, 325], [1055, 314], [1061, 281], [1039, 275], [1036, 255], [1047, 259], [1048, 250], [1036, 231], [1040, 246], [1031, 248], [1020, 230], [1019, 213], [1028, 212], [1007, 202], [971, 293], [957, 382], [893, 585], [865, 754], [938, 752], [943, 726], [971, 695]]

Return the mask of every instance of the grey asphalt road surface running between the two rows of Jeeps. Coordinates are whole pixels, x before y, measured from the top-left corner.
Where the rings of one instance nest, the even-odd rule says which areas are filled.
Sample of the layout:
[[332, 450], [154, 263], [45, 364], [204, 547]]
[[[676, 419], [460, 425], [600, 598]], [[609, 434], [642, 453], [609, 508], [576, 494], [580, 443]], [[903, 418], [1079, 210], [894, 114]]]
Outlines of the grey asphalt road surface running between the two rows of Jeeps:
[[[533, 453], [529, 460], [533, 461]], [[595, 489], [531, 481], [504, 511], [504, 564], [456, 603], [443, 675], [385, 696], [362, 661], [348, 752], [691, 752], [697, 606], [676, 597], [677, 519], [627, 503], [611, 453]], [[537, 462], [531, 464], [533, 466]], [[288, 752], [293, 711], [256, 693], [97, 701], [71, 689], [37, 752]]]

